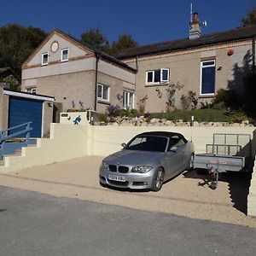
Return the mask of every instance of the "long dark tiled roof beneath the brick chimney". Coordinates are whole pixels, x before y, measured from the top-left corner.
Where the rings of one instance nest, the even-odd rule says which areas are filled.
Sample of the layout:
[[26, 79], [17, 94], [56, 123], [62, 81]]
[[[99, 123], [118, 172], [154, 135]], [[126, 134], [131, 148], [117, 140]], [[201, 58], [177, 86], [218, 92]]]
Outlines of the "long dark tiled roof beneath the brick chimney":
[[256, 26], [240, 27], [229, 31], [201, 35], [200, 38], [195, 39], [182, 38], [174, 41], [166, 41], [157, 44], [148, 44], [130, 49], [124, 49], [121, 53], [119, 53], [119, 55], [116, 55], [116, 57], [122, 60], [140, 55], [152, 55], [168, 51], [177, 51], [212, 44], [239, 41], [247, 38], [253, 38], [254, 36], [256, 36]]

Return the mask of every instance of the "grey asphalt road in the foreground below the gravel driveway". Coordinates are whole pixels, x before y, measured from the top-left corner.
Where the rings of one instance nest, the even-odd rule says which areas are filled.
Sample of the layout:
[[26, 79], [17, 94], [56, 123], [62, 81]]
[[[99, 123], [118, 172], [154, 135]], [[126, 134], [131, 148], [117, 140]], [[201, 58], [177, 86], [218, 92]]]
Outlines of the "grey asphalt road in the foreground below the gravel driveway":
[[0, 187], [0, 255], [255, 255], [256, 230]]

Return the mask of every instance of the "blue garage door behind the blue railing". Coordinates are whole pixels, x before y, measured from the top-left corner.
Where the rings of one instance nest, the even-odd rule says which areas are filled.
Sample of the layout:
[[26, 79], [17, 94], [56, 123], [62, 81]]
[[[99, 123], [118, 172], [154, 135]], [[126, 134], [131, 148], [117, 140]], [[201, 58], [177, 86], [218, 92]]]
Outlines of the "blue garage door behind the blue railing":
[[31, 137], [41, 137], [43, 102], [15, 96], [9, 97], [9, 128], [32, 122]]

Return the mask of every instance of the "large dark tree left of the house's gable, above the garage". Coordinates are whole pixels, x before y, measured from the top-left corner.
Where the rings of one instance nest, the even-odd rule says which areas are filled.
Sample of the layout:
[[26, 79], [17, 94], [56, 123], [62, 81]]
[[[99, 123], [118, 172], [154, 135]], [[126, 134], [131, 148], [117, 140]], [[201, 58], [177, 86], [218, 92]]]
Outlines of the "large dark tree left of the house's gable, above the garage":
[[11, 67], [15, 78], [20, 81], [22, 63], [46, 36], [44, 31], [32, 26], [10, 24], [0, 27], [0, 67]]

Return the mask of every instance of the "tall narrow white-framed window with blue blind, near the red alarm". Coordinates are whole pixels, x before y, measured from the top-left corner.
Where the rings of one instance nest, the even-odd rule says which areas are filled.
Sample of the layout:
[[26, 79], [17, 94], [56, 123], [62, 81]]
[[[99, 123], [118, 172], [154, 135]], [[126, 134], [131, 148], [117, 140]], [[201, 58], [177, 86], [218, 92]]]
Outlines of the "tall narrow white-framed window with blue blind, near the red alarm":
[[201, 95], [215, 93], [215, 60], [201, 61]]

